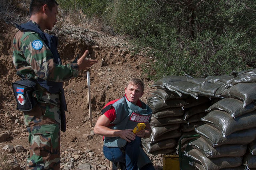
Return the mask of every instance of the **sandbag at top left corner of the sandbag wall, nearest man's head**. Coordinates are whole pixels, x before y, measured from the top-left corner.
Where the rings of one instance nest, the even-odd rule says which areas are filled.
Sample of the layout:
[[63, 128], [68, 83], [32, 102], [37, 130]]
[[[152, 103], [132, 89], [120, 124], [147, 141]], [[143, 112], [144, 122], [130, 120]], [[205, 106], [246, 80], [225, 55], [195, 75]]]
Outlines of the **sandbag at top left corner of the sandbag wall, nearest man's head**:
[[170, 82], [183, 82], [183, 81], [188, 81], [188, 79], [191, 79], [191, 76], [165, 76], [155, 82], [152, 87], [157, 87], [157, 88], [162, 88], [164, 89], [164, 85], [168, 84]]

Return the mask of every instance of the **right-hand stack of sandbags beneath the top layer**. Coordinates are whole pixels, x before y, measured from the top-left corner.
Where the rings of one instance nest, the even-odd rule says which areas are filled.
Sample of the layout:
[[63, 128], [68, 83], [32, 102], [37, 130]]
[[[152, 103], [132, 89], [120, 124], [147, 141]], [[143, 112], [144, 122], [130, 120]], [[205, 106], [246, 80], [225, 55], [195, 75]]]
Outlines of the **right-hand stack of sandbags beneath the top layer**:
[[189, 143], [191, 164], [200, 170], [256, 168], [256, 103], [226, 98], [208, 111], [202, 118], [206, 124], [196, 128], [201, 137]]

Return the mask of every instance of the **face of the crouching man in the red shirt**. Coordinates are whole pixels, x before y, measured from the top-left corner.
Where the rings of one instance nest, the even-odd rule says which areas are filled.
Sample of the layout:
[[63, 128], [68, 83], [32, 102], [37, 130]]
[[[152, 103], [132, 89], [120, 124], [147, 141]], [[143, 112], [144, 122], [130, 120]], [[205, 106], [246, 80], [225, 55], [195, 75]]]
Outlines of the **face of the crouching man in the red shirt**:
[[142, 88], [133, 84], [128, 84], [127, 88], [124, 88], [124, 91], [128, 100], [133, 104], [136, 104], [143, 95]]

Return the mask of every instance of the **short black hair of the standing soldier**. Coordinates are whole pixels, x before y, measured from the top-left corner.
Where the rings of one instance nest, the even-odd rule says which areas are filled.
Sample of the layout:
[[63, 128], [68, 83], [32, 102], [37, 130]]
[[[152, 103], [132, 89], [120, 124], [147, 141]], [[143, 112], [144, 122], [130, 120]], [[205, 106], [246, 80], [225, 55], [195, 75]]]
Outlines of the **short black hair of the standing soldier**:
[[30, 16], [32, 14], [36, 14], [37, 12], [40, 11], [40, 8], [44, 5], [47, 4], [47, 6], [49, 7], [50, 10], [52, 10], [52, 8], [55, 5], [58, 5], [58, 2], [56, 0], [31, 0], [30, 1], [30, 6], [29, 6], [29, 13]]

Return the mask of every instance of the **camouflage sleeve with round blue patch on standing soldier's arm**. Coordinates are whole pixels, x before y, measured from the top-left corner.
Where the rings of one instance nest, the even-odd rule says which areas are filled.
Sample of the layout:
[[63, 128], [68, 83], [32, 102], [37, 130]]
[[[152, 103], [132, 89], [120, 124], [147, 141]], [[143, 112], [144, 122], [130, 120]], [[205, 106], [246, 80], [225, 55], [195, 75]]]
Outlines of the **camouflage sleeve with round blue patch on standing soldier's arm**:
[[[40, 49], [33, 47], [32, 43], [35, 40], [42, 42]], [[22, 53], [24, 54], [27, 63], [30, 64], [36, 76], [44, 80], [54, 82], [64, 82], [79, 74], [78, 64], [55, 64], [53, 54], [46, 46], [38, 34], [31, 33], [26, 36], [20, 44]]]

